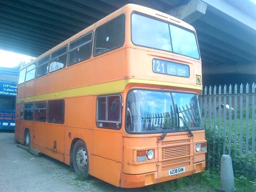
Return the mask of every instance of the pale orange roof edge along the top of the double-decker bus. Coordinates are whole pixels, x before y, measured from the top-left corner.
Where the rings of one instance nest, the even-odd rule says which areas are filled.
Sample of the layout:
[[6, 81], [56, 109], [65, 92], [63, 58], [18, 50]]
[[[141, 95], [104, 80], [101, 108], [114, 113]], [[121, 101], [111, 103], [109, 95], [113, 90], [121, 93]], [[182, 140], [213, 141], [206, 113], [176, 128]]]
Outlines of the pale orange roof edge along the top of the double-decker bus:
[[180, 19], [178, 19], [176, 17], [173, 17], [171, 15], [168, 15], [166, 13], [157, 11], [155, 9], [151, 9], [151, 8], [148, 8], [148, 7], [145, 7], [145, 6], [140, 6], [140, 5], [137, 5], [137, 4], [131, 4], [130, 3], [130, 4], [127, 4], [123, 7], [121, 7], [120, 9], [117, 9], [116, 11], [111, 13], [110, 15], [102, 18], [101, 20], [99, 20], [96, 23], [88, 26], [87, 28], [81, 30], [80, 32], [73, 35], [72, 37], [70, 37], [67, 40], [63, 41], [62, 43], [56, 45], [52, 49], [49, 49], [47, 52], [44, 52], [42, 55], [38, 56], [33, 61], [30, 61], [29, 63], [20, 67], [20, 70], [22, 70], [23, 68], [26, 68], [28, 65], [34, 63], [35, 61], [38, 61], [39, 59], [44, 58], [45, 56], [49, 55], [51, 52], [54, 52], [55, 50], [58, 50], [59, 48], [69, 44], [70, 42], [76, 40], [77, 38], [81, 37], [82, 35], [85, 35], [88, 32], [95, 30], [97, 27], [99, 27], [102, 24], [108, 22], [109, 20], [112, 20], [113, 18], [117, 17], [118, 15], [125, 14], [126, 12], [133, 12], [133, 11], [145, 13], [146, 15], [150, 15], [152, 17], [156, 17], [158, 19], [165, 20], [167, 22], [175, 23], [179, 26], [185, 27], [186, 29], [190, 29], [192, 31], [195, 31], [195, 28], [193, 26], [189, 25], [188, 23], [184, 22], [183, 20], [180, 20]]

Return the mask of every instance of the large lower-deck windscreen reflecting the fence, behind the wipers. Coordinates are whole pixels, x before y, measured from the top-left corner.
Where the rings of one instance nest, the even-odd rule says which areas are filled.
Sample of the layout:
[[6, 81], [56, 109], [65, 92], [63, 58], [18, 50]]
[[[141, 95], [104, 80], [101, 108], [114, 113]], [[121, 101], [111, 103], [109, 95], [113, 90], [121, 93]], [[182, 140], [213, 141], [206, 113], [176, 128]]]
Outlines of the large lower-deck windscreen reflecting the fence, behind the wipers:
[[126, 103], [126, 131], [161, 133], [203, 129], [198, 96], [154, 90], [131, 90]]

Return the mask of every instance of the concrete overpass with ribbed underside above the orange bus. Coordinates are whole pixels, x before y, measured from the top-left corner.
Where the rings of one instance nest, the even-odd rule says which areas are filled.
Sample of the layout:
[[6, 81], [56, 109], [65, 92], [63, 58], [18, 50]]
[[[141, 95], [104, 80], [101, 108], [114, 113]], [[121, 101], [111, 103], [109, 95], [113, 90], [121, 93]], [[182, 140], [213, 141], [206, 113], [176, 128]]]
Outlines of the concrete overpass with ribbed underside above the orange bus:
[[36, 57], [127, 3], [195, 27], [204, 85], [256, 81], [256, 4], [250, 0], [2, 0], [0, 49]]

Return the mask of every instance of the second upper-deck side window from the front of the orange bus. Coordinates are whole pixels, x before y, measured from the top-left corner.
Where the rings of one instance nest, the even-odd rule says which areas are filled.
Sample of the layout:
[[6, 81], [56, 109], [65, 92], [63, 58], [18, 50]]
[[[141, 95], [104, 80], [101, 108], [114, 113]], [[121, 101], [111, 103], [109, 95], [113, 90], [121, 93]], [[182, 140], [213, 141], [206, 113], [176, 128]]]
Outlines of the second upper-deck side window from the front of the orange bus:
[[70, 43], [67, 65], [73, 65], [90, 58], [92, 54], [93, 32]]

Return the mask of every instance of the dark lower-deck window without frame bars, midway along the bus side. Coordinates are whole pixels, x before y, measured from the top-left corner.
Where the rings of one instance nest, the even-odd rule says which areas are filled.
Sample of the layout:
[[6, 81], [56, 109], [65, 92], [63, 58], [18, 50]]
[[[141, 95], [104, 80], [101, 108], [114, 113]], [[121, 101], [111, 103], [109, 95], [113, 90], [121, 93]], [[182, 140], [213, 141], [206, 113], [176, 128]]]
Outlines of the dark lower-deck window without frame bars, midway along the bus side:
[[65, 102], [61, 100], [53, 100], [48, 102], [48, 122], [64, 123]]

